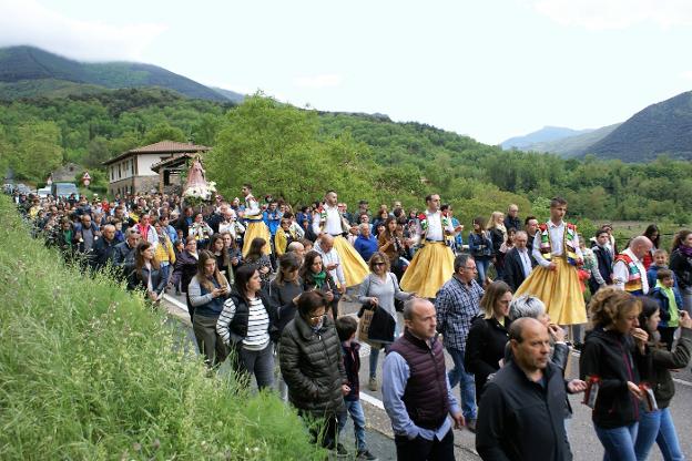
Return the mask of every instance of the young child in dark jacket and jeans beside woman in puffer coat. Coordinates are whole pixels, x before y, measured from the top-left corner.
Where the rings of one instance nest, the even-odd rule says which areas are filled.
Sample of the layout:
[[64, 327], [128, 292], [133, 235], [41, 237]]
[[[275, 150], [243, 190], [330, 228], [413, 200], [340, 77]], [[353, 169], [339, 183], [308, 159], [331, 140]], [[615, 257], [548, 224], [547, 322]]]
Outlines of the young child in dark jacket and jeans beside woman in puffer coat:
[[360, 345], [355, 340], [357, 329], [358, 322], [353, 317], [344, 316], [336, 319], [336, 331], [342, 341], [344, 368], [346, 368], [346, 378], [350, 388], [350, 392], [344, 397], [344, 403], [348, 413], [339, 416], [339, 433], [346, 427], [348, 414], [350, 414], [356, 433], [356, 460], [377, 460], [377, 457], [372, 454], [365, 444], [365, 413], [360, 406], [360, 381], [358, 378], [358, 371], [360, 371], [360, 357], [358, 356]]

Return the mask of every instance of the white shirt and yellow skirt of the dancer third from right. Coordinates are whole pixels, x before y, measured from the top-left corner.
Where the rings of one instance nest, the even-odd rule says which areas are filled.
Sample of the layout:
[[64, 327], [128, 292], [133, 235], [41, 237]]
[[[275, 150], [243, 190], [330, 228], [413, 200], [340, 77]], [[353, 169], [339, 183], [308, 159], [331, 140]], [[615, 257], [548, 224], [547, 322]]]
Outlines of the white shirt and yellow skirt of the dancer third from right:
[[325, 233], [334, 237], [334, 249], [342, 260], [346, 287], [359, 285], [370, 273], [358, 252], [343, 236], [349, 227], [336, 206], [332, 207], [325, 204], [313, 216], [313, 232], [316, 235]]

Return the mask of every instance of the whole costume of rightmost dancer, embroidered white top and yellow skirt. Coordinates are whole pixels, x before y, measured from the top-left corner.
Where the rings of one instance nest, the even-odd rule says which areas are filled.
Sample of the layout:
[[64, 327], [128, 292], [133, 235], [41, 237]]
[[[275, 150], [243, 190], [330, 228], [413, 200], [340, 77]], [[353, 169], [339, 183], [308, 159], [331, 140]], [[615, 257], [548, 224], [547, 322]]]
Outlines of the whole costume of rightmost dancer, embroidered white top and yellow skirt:
[[[539, 264], [519, 286], [515, 296], [533, 295], [546, 305], [558, 325], [587, 322], [587, 308], [579, 285], [578, 265], [583, 262], [573, 224], [541, 224], [533, 239], [533, 258]], [[554, 263], [556, 270], [548, 266]]]

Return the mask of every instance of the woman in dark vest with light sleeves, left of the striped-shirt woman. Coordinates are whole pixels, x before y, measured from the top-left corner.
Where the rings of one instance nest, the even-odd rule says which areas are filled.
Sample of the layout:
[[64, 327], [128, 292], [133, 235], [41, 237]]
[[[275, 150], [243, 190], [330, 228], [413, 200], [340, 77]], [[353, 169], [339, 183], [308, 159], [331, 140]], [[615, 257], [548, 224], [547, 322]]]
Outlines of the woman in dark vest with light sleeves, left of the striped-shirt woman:
[[231, 287], [226, 277], [218, 270], [216, 257], [212, 252], [200, 252], [197, 273], [190, 280], [187, 296], [195, 309], [192, 329], [197, 340], [204, 362], [215, 367], [226, 359], [227, 350], [216, 332], [216, 321], [224, 308], [224, 300]]

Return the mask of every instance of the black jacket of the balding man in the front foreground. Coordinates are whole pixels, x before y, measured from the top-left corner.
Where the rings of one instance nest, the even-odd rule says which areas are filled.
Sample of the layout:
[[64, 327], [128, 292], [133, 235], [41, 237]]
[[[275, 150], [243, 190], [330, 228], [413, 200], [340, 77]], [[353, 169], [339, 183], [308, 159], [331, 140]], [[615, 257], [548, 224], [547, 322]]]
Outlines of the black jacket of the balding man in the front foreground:
[[476, 450], [485, 461], [572, 459], [562, 372], [549, 362], [543, 377], [545, 388], [510, 361], [488, 381], [476, 426]]

